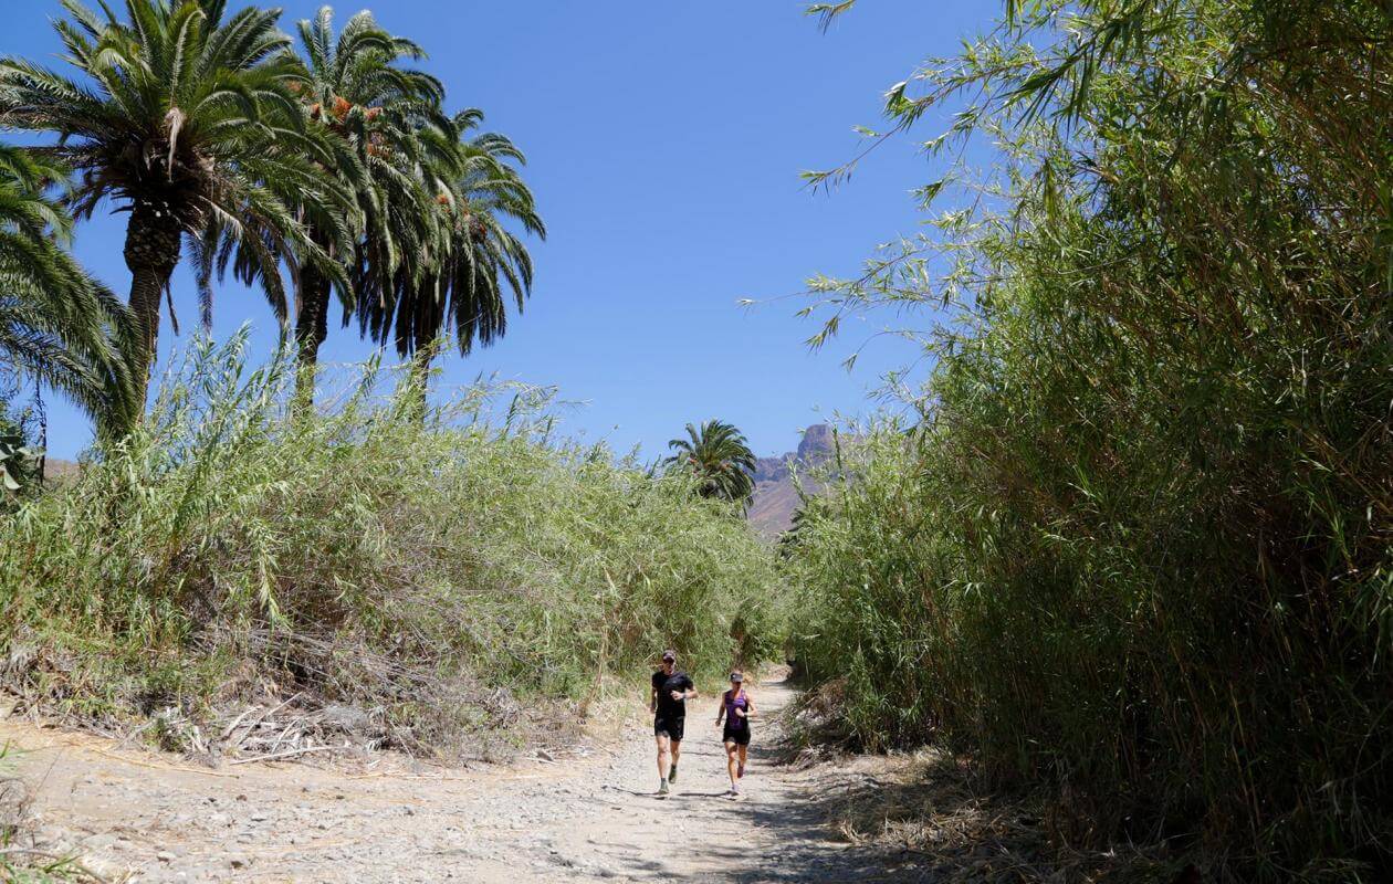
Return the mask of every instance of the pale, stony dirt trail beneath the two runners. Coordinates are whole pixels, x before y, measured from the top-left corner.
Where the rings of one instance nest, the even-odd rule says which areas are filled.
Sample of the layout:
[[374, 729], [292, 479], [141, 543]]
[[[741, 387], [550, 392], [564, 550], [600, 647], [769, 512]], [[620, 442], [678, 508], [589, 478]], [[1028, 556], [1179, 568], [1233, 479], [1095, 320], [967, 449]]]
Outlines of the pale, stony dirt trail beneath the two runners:
[[[773, 713], [793, 690], [765, 684]], [[857, 774], [773, 764], [756, 728], [747, 796], [727, 780], [715, 703], [694, 702], [677, 792], [656, 787], [634, 723], [610, 750], [557, 763], [421, 773], [308, 764], [178, 764], [81, 734], [0, 723], [26, 750], [42, 844], [127, 881], [905, 881], [912, 867], [850, 848], [826, 827], [829, 788]], [[833, 789], [834, 791], [834, 789]], [[898, 859], [904, 859], [903, 856]]]

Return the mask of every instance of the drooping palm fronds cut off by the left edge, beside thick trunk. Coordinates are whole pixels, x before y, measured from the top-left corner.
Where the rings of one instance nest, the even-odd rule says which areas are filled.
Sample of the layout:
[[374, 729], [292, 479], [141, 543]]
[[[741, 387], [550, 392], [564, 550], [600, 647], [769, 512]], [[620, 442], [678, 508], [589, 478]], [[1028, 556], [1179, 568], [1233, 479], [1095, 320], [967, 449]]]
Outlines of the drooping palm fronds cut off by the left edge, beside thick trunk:
[[45, 188], [65, 180], [60, 166], [0, 146], [0, 370], [53, 387], [111, 437], [141, 412], [123, 355], [134, 326], [60, 245], [72, 221]]

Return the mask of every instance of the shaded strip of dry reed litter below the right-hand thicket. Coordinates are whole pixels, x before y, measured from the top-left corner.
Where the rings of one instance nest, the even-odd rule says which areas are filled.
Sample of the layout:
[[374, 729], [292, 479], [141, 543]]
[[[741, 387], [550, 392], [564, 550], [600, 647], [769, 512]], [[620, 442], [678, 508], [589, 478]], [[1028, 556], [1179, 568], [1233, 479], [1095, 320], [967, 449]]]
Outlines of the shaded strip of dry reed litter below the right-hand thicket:
[[965, 763], [935, 750], [784, 771], [793, 782], [783, 800], [751, 807], [752, 824], [779, 846], [737, 862], [729, 877], [738, 884], [1190, 880], [1177, 877], [1184, 858], [1159, 845], [1059, 849], [1041, 796], [986, 789]]

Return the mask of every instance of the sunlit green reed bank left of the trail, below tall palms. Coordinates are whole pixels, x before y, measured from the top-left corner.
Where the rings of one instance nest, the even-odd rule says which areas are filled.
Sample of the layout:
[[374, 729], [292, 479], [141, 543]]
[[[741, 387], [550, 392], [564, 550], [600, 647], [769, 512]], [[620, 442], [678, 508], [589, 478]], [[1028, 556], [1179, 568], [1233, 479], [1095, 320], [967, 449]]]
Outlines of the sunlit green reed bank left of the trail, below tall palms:
[[481, 685], [581, 696], [655, 649], [715, 675], [781, 646], [745, 526], [683, 476], [549, 441], [545, 395], [490, 420], [471, 390], [422, 422], [369, 365], [288, 419], [293, 365], [249, 372], [242, 345], [201, 342], [143, 426], [0, 521], [21, 690], [110, 714], [273, 679], [440, 748], [492, 720]]

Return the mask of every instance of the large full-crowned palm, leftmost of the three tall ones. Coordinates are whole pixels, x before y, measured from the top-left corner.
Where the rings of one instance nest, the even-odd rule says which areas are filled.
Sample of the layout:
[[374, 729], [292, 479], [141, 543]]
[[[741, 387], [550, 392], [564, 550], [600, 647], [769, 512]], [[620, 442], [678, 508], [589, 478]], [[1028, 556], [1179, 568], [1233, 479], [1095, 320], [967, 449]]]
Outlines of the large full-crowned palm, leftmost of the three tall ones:
[[290, 210], [343, 249], [352, 241], [351, 195], [320, 168], [330, 159], [293, 96], [302, 82], [284, 53], [279, 11], [226, 17], [226, 0], [125, 0], [123, 21], [64, 0], [56, 21], [71, 79], [24, 58], [0, 60], [0, 125], [59, 136], [46, 155], [78, 175], [77, 217], [113, 199], [130, 212], [125, 265], [137, 323], [139, 390], [156, 354], [160, 298], [189, 237], [210, 322], [215, 269], [259, 283], [281, 322], [280, 262], [298, 256], [341, 280], [325, 248]]

